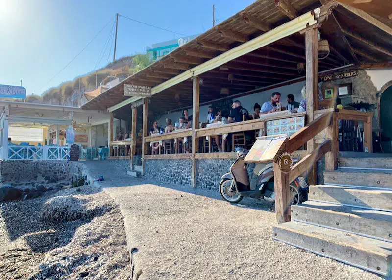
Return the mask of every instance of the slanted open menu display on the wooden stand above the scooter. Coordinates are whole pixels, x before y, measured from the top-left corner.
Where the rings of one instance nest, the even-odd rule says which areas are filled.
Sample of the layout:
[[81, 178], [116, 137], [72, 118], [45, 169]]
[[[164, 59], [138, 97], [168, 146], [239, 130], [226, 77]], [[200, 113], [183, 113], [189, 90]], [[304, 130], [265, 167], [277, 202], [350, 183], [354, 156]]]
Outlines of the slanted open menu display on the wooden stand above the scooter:
[[262, 163], [274, 161], [284, 148], [287, 140], [287, 135], [257, 137], [256, 142], [245, 157], [245, 162]]

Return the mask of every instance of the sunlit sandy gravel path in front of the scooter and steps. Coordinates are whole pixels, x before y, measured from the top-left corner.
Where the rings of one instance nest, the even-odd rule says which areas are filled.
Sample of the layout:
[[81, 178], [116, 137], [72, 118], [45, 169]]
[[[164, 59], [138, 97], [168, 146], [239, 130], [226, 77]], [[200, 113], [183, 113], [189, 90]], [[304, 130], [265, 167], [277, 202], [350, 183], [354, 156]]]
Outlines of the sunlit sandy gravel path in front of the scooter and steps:
[[120, 205], [128, 248], [137, 248], [139, 280], [381, 279], [273, 241], [270, 204], [230, 205], [215, 192], [162, 184], [104, 191]]

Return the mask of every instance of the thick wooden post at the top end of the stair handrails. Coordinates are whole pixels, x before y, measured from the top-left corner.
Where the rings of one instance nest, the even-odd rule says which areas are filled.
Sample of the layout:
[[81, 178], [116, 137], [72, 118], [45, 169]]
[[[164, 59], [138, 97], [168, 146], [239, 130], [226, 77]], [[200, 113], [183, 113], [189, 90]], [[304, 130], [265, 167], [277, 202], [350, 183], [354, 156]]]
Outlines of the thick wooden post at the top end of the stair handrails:
[[333, 171], [338, 166], [338, 150], [339, 150], [339, 128], [338, 114], [332, 113], [331, 124], [325, 129], [325, 139], [331, 139], [331, 151], [325, 154], [325, 170]]

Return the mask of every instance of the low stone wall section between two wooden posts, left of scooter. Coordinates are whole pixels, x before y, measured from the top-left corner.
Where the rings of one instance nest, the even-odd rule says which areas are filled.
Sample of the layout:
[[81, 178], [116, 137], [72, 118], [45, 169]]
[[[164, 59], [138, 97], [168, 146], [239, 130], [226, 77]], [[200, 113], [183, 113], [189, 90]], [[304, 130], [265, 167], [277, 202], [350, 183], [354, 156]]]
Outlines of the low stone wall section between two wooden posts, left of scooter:
[[158, 182], [191, 186], [192, 160], [146, 160], [145, 177]]

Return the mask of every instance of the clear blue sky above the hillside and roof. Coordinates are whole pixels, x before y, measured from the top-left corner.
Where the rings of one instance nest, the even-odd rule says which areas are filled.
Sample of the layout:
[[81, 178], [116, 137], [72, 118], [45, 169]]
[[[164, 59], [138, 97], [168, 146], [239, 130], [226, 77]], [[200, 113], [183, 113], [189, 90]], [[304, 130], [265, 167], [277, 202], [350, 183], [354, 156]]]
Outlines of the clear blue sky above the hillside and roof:
[[[22, 85], [27, 94], [94, 70], [119, 13], [175, 32], [193, 35], [212, 27], [253, 0], [0, 0], [0, 84]], [[65, 70], [56, 75], [102, 33]], [[116, 58], [145, 52], [146, 46], [174, 38], [173, 33], [119, 18]], [[175, 35], [179, 38], [180, 35]], [[108, 44], [109, 45], [109, 44]], [[110, 45], [97, 68], [113, 59]]]

